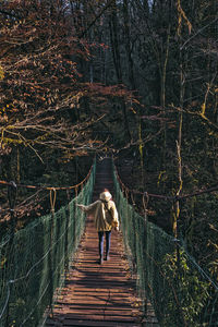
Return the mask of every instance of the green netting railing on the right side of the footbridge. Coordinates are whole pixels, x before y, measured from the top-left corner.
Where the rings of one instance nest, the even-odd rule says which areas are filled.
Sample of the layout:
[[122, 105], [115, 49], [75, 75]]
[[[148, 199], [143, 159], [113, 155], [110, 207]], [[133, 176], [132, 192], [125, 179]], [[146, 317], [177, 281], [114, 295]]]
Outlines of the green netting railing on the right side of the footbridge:
[[114, 197], [125, 252], [143, 300], [165, 327], [218, 326], [218, 284], [185, 251], [182, 241], [137, 214], [120, 186], [113, 165]]

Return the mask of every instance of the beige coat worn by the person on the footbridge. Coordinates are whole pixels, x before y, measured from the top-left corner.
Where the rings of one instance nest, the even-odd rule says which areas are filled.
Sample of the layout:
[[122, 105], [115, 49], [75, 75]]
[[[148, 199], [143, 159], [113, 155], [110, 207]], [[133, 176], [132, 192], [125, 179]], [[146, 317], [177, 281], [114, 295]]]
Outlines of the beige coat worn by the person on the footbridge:
[[113, 201], [98, 199], [88, 206], [77, 206], [88, 215], [94, 216], [94, 223], [97, 231], [110, 231], [113, 227], [119, 229], [118, 211]]

